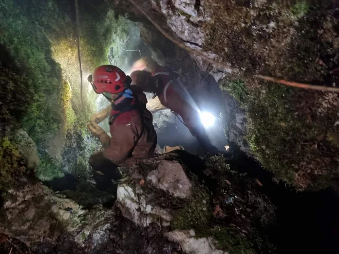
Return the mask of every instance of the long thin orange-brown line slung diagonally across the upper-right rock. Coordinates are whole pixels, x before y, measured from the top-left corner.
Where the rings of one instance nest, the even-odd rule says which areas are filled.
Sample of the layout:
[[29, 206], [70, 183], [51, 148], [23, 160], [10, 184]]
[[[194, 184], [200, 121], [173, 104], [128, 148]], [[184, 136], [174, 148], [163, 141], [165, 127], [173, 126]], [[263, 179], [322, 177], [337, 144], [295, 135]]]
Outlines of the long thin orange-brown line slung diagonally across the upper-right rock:
[[[196, 49], [192, 49], [192, 48], [186, 46], [185, 44], [179, 42], [172, 35], [170, 35], [164, 29], [162, 29], [162, 27], [160, 27], [153, 20], [153, 18], [151, 18], [134, 0], [128, 0], [128, 2], [131, 3], [135, 8], [137, 8], [148, 19], [148, 21], [150, 23], [152, 23], [159, 30], [159, 32], [162, 33], [162, 35], [164, 35], [171, 42], [175, 43], [179, 48], [182, 48], [182, 49], [184, 49], [184, 50], [186, 50], [186, 51], [188, 51], [192, 54], [195, 54], [195, 55], [201, 57], [206, 62], [213, 64], [215, 66], [225, 68], [225, 69], [229, 69], [229, 70], [236, 71], [236, 72], [239, 71], [238, 68], [234, 68], [234, 67], [231, 67], [230, 65], [212, 60], [211, 58], [204, 55], [200, 51], [198, 51]], [[291, 81], [286, 81], [286, 80], [280, 80], [280, 79], [277, 79], [275, 77], [264, 76], [264, 75], [254, 75], [254, 76], [257, 77], [257, 79], [266, 80], [266, 81], [270, 81], [270, 82], [274, 82], [274, 83], [278, 83], [278, 84], [283, 84], [283, 85], [286, 85], [286, 86], [292, 86], [292, 87], [303, 88], [303, 89], [319, 90], [319, 91], [325, 91], [325, 92], [339, 92], [339, 88], [337, 88], [337, 87], [315, 86], [315, 85], [310, 85], [310, 84], [303, 84], [303, 83], [291, 82]]]

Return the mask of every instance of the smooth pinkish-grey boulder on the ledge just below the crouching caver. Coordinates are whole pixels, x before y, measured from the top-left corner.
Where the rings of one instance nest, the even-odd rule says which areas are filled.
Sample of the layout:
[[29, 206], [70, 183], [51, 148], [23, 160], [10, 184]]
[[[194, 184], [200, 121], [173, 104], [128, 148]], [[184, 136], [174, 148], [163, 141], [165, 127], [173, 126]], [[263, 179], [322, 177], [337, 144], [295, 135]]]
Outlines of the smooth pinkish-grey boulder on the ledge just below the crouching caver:
[[192, 184], [178, 162], [162, 161], [156, 170], [148, 173], [147, 181], [176, 198], [185, 199], [192, 194]]

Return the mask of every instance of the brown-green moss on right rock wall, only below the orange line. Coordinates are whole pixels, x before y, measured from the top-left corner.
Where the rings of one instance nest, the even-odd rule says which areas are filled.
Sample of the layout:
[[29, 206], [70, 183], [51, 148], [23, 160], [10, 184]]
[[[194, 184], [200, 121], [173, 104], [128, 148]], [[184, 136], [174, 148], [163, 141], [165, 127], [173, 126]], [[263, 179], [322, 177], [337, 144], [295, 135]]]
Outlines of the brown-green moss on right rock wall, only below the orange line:
[[[318, 92], [266, 82], [259, 87], [245, 89], [246, 100], [242, 100], [252, 152], [265, 168], [289, 184], [315, 189], [326, 187], [326, 181], [330, 185], [337, 175], [333, 158], [338, 158], [338, 139], [332, 124], [337, 109], [327, 107], [323, 112], [321, 105], [336, 105], [336, 96], [322, 97]], [[238, 96], [234, 90], [238, 91], [229, 89]]]

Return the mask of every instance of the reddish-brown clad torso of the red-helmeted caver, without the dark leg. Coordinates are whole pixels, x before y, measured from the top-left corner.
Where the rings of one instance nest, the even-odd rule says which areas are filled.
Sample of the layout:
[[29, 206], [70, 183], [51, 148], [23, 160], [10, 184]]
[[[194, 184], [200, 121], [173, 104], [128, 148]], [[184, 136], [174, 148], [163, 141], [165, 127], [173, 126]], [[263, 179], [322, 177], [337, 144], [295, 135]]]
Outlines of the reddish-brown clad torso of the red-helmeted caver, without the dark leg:
[[[104, 149], [105, 158], [123, 166], [151, 157], [157, 145], [153, 116], [146, 109], [146, 96], [141, 90], [131, 90], [135, 98], [125, 99], [112, 108], [109, 120], [112, 138], [110, 146]], [[125, 108], [130, 110], [123, 112]]]

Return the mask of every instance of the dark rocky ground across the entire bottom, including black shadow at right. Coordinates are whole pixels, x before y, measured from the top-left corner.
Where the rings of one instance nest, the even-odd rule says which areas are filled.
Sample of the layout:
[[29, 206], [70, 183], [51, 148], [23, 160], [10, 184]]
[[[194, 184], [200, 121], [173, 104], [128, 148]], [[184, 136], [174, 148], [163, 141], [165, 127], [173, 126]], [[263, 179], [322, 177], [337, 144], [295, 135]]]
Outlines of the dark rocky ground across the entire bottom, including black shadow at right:
[[[279, 253], [293, 246], [330, 253], [337, 242], [328, 231], [339, 227], [333, 193], [291, 191], [236, 153], [202, 161], [177, 151], [120, 170], [114, 206], [79, 205], [80, 193], [89, 197], [81, 188], [78, 198], [42, 184], [4, 192], [0, 248], [9, 252], [12, 242], [27, 253], [219, 254]], [[306, 247], [318, 238], [326, 245]]]

